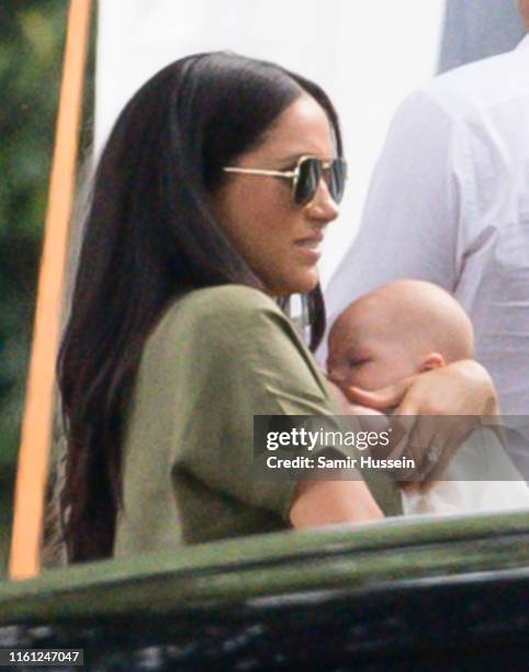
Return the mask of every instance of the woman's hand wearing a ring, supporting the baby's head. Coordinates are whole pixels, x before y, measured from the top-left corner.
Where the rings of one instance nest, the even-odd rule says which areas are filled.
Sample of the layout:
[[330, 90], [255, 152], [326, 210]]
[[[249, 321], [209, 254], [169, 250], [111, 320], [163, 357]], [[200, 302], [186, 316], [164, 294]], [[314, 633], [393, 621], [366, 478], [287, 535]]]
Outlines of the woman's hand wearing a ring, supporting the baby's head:
[[499, 413], [494, 383], [474, 360], [418, 373], [375, 392], [349, 388], [347, 396], [398, 416], [398, 434], [407, 436], [398, 445], [415, 460], [419, 475], [414, 483], [423, 488], [439, 479], [476, 426], [494, 426]]

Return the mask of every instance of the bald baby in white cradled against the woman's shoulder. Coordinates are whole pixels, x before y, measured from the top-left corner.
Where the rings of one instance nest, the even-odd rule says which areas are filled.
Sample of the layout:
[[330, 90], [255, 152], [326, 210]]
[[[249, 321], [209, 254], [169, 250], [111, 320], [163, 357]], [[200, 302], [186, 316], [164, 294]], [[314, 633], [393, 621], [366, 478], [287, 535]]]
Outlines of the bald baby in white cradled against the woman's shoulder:
[[[338, 317], [327, 371], [342, 391], [378, 390], [473, 356], [472, 324], [459, 303], [429, 282], [398, 280], [361, 296]], [[378, 414], [352, 405], [348, 413]], [[475, 430], [459, 447], [442, 481], [426, 492], [406, 488], [402, 496], [405, 514], [529, 507], [529, 488], [489, 429]]]

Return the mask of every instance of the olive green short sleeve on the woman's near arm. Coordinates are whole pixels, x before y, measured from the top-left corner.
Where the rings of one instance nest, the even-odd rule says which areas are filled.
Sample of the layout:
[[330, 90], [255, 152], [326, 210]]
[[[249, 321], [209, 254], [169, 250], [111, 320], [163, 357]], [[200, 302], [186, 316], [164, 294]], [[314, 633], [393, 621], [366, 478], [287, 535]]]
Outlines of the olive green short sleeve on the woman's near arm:
[[[175, 336], [188, 390], [175, 405], [172, 470], [288, 517], [296, 483], [252, 474], [254, 415], [337, 413], [311, 354], [274, 302], [244, 287], [194, 292]], [[177, 329], [180, 331], [180, 329]], [[171, 334], [169, 326], [168, 336]], [[171, 355], [172, 352], [172, 355]]]

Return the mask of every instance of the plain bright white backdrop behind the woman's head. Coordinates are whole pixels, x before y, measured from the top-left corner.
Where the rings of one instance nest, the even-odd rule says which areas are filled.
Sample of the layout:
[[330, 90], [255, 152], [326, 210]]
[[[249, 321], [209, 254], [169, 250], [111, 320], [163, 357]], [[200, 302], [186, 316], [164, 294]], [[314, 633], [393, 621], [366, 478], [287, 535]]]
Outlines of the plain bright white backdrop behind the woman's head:
[[320, 266], [325, 282], [352, 239], [398, 102], [436, 69], [443, 0], [100, 0], [95, 145], [159, 68], [232, 49], [322, 85], [341, 117], [350, 180]]

